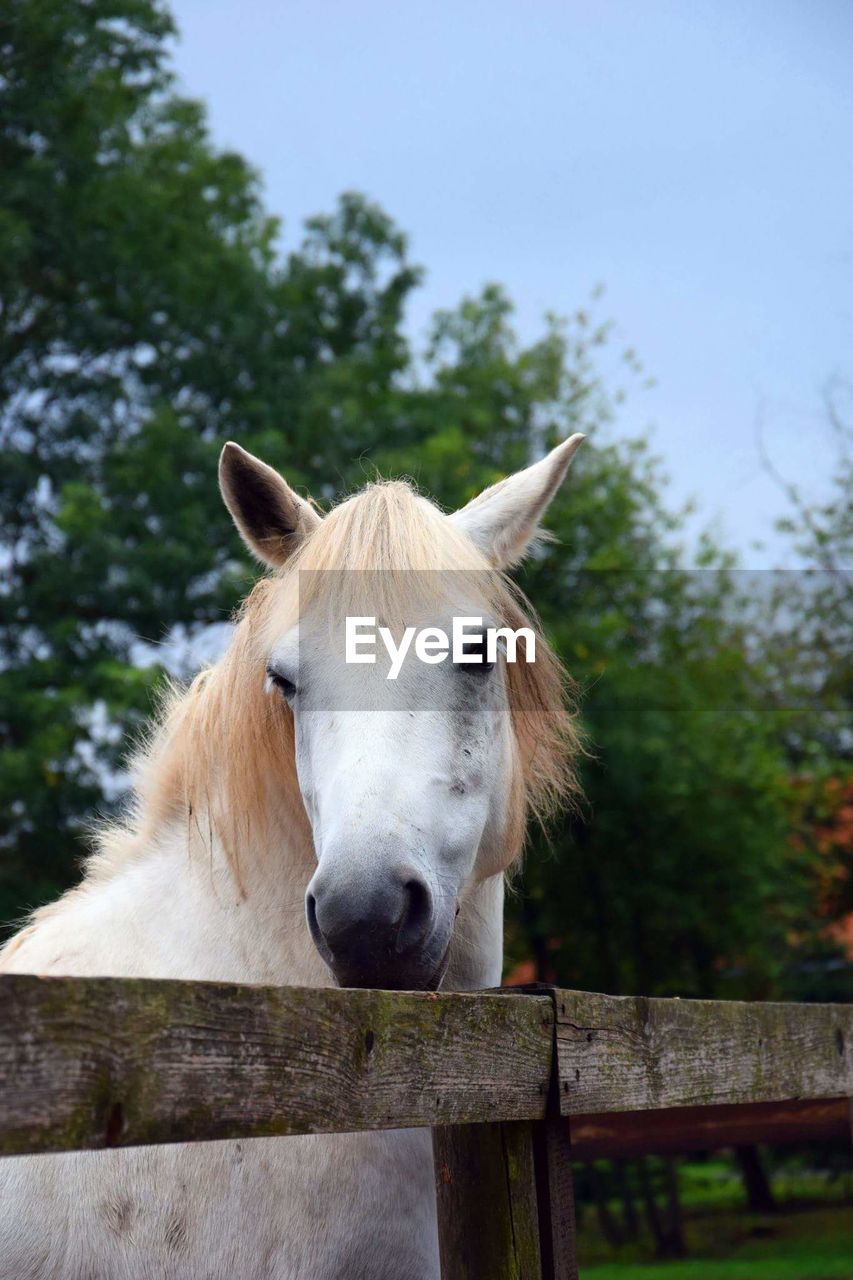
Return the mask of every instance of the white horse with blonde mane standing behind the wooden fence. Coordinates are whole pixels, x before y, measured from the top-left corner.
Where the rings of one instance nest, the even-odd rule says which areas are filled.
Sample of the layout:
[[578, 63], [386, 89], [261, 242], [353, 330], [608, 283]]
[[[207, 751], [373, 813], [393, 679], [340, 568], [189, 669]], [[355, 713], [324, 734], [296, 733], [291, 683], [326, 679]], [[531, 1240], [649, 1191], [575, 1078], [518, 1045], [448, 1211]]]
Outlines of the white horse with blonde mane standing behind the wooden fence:
[[[392, 481], [325, 518], [225, 445], [224, 500], [274, 572], [225, 657], [173, 695], [137, 758], [134, 803], [100, 832], [82, 883], [36, 913], [0, 970], [497, 986], [503, 874], [528, 812], [573, 786], [556, 659], [537, 635], [535, 662], [415, 662], [398, 682], [360, 666], [356, 696], [336, 691], [323, 630], [298, 643], [297, 623], [309, 598], [369, 613], [352, 590], [368, 580], [397, 621], [430, 600], [446, 621], [442, 582], [462, 570], [473, 613], [532, 626], [502, 570], [580, 440], [452, 516]], [[0, 1160], [1, 1280], [438, 1274], [428, 1130]]]

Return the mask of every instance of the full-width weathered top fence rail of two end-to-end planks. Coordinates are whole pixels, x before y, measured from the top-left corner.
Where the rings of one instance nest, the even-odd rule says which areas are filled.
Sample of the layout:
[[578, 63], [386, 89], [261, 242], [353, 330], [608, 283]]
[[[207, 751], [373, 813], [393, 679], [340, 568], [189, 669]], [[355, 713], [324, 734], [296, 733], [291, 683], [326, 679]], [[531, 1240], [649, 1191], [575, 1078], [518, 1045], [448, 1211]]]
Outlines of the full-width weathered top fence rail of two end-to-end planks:
[[[680, 1108], [702, 1128], [697, 1108], [722, 1105], [736, 1132], [733, 1103], [853, 1094], [849, 1005], [10, 974], [0, 1153], [542, 1119], [555, 1039], [560, 1111], [590, 1152], [619, 1140], [612, 1112], [671, 1133]], [[840, 1116], [824, 1108], [824, 1130]]]

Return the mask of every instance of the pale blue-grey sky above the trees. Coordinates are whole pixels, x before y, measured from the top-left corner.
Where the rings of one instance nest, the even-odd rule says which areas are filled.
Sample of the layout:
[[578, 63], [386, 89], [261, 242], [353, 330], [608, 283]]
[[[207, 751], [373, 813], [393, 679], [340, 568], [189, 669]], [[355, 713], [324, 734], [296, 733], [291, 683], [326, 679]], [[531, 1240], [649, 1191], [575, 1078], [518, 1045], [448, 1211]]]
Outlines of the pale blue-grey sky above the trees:
[[[409, 233], [433, 310], [507, 285], [524, 338], [606, 287], [648, 431], [747, 566], [775, 466], [826, 493], [853, 379], [850, 0], [173, 0], [183, 88], [295, 239], [348, 188]], [[758, 552], [756, 539], [770, 541]]]

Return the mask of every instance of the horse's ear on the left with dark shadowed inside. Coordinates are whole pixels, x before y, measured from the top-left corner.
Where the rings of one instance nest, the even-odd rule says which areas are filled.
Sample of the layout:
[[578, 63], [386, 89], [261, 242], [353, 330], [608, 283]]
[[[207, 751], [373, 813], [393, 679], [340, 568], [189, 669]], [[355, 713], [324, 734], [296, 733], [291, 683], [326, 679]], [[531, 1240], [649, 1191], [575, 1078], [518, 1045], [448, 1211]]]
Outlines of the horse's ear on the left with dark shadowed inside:
[[219, 489], [252, 556], [278, 568], [320, 524], [320, 516], [260, 458], [229, 440], [219, 457]]

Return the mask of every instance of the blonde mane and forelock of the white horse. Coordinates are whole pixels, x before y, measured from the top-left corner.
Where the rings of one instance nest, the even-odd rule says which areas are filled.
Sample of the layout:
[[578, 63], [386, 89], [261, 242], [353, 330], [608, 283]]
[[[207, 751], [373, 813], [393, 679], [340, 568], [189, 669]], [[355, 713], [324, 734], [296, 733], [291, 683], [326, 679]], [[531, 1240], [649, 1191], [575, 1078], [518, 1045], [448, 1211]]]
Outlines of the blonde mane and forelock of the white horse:
[[[571, 685], [526, 600], [411, 485], [382, 481], [333, 508], [284, 568], [256, 584], [240, 608], [228, 652], [215, 666], [186, 691], [168, 690], [159, 719], [133, 760], [137, 783], [127, 815], [96, 832], [88, 879], [111, 874], [150, 846], [165, 823], [177, 820], [186, 824], [191, 849], [209, 850], [218, 836], [240, 884], [240, 849], [264, 846], [275, 803], [298, 815], [310, 842], [296, 781], [292, 713], [283, 699], [268, 695], [265, 668], [282, 620], [296, 620], [297, 581], [316, 584], [321, 572], [337, 570], [384, 571], [387, 608], [401, 616], [412, 603], [412, 584], [420, 582], [423, 590], [424, 576], [412, 570], [466, 570], [485, 584], [500, 626], [535, 627], [535, 662], [506, 668], [517, 746], [507, 865], [520, 852], [528, 815], [544, 819], [571, 801], [579, 749]], [[311, 572], [300, 576], [300, 571]], [[357, 575], [352, 591], [355, 602]]]

